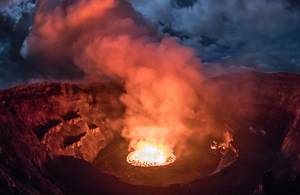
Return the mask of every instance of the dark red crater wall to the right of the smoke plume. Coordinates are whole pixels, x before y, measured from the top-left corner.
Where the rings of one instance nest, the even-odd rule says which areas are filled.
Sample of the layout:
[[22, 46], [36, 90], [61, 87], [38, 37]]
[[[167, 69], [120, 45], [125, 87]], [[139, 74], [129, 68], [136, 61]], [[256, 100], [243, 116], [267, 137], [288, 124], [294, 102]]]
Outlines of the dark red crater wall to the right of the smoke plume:
[[228, 124], [247, 124], [250, 121], [265, 124], [266, 127], [249, 129], [258, 134], [266, 133], [274, 147], [281, 146], [281, 153], [298, 173], [300, 76], [252, 72], [221, 75], [212, 80], [217, 83], [214, 91], [216, 117]]

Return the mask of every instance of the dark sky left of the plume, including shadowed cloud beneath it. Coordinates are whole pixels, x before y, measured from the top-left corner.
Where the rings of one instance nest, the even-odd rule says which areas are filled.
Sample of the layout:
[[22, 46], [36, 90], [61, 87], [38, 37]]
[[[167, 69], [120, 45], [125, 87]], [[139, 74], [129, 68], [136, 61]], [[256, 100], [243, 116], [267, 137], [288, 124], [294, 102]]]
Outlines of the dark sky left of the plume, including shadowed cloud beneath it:
[[[52, 4], [60, 3], [52, 1]], [[48, 6], [50, 7], [50, 6]], [[35, 0], [1, 1], [0, 89], [41, 81], [76, 82], [84, 76], [73, 59], [49, 60], [42, 55], [23, 58], [22, 44], [33, 24]]]

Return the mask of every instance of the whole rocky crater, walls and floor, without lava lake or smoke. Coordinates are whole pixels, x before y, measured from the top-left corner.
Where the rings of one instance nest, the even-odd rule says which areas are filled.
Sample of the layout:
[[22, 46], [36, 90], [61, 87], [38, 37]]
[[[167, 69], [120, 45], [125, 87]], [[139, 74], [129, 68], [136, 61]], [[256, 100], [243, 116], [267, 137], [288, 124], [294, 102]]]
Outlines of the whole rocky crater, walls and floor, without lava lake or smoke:
[[[263, 86], [276, 90], [262, 90], [258, 82], [262, 80]], [[138, 167], [126, 161], [130, 140], [120, 136], [124, 128], [120, 119], [125, 114], [118, 99], [122, 87], [41, 83], [1, 91], [0, 174], [1, 181], [10, 178], [1, 185], [5, 187], [1, 192], [40, 192], [35, 186], [44, 186], [43, 193], [54, 194], [61, 194], [60, 190], [69, 194], [197, 194], [199, 189], [207, 194], [223, 194], [223, 190], [241, 194], [256, 190], [262, 173], [269, 169], [279, 173], [275, 175], [278, 180], [296, 178], [298, 148], [292, 144], [299, 139], [295, 136], [299, 104], [289, 95], [300, 97], [299, 78], [286, 73], [247, 73], [220, 76], [213, 82], [218, 84], [218, 104], [211, 106], [218, 111], [214, 120], [194, 121], [193, 132], [174, 147], [176, 161], [158, 167]], [[62, 116], [70, 112], [76, 112], [77, 118], [64, 121]], [[57, 122], [52, 124], [53, 120]], [[45, 128], [50, 129], [39, 140]], [[203, 130], [211, 134], [199, 134]], [[226, 143], [231, 131], [234, 136], [228, 149], [223, 155], [214, 154], [213, 141]], [[64, 147], [65, 139], [78, 135], [83, 135], [79, 141]], [[148, 187], [129, 185], [109, 175]], [[38, 179], [29, 182], [29, 178]]]

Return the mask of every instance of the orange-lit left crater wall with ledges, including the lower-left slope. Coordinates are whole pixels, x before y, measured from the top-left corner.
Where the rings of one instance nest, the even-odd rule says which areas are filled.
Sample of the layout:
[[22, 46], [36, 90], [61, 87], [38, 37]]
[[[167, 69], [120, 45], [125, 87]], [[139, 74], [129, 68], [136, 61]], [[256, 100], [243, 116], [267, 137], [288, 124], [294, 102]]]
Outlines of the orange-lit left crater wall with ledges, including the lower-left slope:
[[0, 91], [1, 194], [61, 194], [44, 164], [58, 155], [92, 162], [120, 137], [123, 92], [110, 83], [47, 82]]

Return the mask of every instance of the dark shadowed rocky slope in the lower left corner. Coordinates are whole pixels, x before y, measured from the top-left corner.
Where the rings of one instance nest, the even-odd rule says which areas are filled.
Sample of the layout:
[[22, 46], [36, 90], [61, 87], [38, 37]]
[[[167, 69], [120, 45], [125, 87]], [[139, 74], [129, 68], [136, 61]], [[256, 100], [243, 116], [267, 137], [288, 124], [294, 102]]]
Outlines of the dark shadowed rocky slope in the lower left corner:
[[2, 107], [0, 194], [62, 194], [58, 187], [43, 176], [43, 164], [48, 158], [53, 158], [55, 153], [41, 145], [16, 113], [5, 111]]

